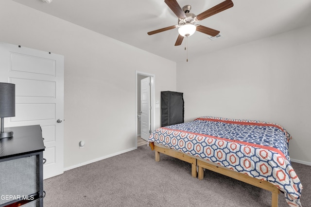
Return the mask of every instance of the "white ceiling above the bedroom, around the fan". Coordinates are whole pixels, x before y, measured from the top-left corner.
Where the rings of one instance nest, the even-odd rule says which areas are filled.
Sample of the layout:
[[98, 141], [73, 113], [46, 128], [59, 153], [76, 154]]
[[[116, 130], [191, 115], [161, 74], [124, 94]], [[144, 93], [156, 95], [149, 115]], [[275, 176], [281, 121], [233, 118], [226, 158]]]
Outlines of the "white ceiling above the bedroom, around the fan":
[[[181, 46], [174, 46], [177, 29], [147, 34], [177, 24], [177, 17], [164, 0], [52, 0], [50, 4], [42, 0], [13, 1], [174, 62], [186, 61], [187, 38]], [[195, 15], [222, 1], [177, 0], [180, 7], [190, 4], [190, 12]], [[223, 37], [212, 41], [207, 34], [195, 32], [188, 37], [189, 58], [311, 25], [311, 0], [232, 1], [232, 8], [199, 22], [220, 31]]]

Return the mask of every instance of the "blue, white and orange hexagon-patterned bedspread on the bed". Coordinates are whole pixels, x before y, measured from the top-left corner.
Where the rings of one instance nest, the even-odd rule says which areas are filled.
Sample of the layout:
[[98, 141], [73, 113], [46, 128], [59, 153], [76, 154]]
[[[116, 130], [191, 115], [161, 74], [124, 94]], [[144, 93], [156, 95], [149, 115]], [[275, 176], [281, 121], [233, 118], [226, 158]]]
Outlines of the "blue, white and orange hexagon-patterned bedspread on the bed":
[[287, 131], [276, 124], [203, 116], [157, 128], [149, 142], [267, 180], [284, 192], [290, 206], [301, 207], [302, 185], [291, 166], [289, 139]]

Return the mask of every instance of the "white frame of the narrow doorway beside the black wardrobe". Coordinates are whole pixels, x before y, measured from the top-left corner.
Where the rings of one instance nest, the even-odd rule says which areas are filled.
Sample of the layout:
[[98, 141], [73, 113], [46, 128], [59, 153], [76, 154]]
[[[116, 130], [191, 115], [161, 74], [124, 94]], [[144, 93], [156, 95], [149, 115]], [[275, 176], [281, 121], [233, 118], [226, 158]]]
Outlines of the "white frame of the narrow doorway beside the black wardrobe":
[[[150, 110], [149, 110], [149, 116], [150, 116], [150, 131], [154, 130], [155, 125], [155, 75], [144, 73], [140, 71], [136, 71], [136, 135], [137, 137], [141, 136], [141, 80], [146, 79], [150, 77]], [[138, 144], [136, 143], [136, 147]]]

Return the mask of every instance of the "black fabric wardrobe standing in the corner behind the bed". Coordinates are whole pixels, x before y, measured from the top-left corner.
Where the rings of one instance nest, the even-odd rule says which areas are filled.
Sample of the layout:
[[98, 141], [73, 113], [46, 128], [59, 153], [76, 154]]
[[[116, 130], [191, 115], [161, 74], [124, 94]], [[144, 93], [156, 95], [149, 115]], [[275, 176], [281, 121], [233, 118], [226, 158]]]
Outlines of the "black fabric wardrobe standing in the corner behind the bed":
[[183, 93], [161, 92], [161, 127], [184, 122]]

